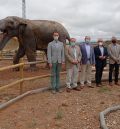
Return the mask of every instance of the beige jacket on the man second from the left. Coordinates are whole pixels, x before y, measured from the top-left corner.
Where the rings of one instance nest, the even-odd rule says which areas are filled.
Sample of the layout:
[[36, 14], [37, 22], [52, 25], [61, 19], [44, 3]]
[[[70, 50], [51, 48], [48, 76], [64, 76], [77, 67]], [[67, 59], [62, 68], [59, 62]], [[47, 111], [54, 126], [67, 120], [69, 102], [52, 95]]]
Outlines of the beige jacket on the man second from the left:
[[[76, 48], [76, 58], [80, 62], [81, 58], [82, 58], [81, 50], [80, 50], [79, 46], [77, 46], [77, 45], [75, 45], [75, 48]], [[72, 61], [75, 59], [74, 49], [69, 45], [65, 46], [65, 57], [66, 57], [66, 68], [67, 69], [69, 69], [73, 65], [75, 65], [72, 63]], [[80, 65], [80, 63], [77, 64], [77, 66], [79, 66], [79, 65]]]

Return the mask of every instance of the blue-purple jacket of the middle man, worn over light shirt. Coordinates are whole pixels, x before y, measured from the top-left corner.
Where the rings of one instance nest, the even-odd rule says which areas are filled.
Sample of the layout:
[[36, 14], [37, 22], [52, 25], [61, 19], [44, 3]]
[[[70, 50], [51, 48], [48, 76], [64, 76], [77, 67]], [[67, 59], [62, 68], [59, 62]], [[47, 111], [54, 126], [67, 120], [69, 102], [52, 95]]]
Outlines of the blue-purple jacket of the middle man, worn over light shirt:
[[[85, 47], [85, 43], [80, 45], [81, 53], [82, 53], [82, 64], [87, 64], [88, 58], [87, 58], [87, 51]], [[95, 64], [95, 55], [94, 55], [94, 49], [90, 45], [90, 64]]]

